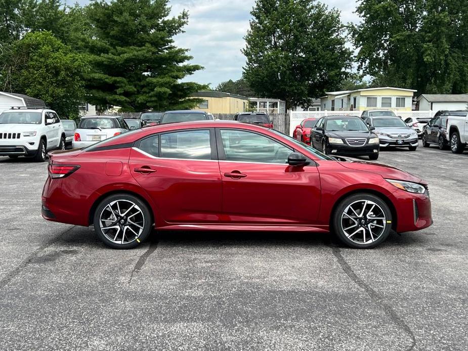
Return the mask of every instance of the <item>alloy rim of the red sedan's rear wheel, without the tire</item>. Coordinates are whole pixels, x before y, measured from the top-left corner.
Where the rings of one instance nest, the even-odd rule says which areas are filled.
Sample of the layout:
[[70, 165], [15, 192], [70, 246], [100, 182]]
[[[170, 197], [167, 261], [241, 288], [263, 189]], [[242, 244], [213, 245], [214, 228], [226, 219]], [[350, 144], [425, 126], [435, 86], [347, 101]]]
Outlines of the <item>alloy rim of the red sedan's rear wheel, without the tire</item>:
[[109, 241], [123, 245], [139, 240], [145, 227], [145, 217], [136, 203], [130, 200], [115, 200], [101, 211], [99, 224]]

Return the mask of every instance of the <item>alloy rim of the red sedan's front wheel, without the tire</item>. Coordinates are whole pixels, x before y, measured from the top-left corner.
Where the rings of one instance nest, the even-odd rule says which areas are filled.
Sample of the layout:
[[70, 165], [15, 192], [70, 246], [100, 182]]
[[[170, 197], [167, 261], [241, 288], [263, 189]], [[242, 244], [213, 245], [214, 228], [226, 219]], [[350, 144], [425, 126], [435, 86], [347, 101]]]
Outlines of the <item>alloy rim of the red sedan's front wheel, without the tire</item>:
[[356, 244], [369, 244], [385, 232], [387, 218], [374, 201], [358, 200], [349, 204], [341, 216], [341, 227], [346, 237]]

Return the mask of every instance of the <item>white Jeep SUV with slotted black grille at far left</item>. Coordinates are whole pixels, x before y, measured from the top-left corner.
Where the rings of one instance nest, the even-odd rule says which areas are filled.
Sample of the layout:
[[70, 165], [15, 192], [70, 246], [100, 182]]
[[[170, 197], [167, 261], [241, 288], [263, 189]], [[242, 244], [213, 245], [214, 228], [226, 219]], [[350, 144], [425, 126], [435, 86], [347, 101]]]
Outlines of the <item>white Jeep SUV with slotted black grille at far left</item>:
[[12, 108], [0, 114], [0, 156], [42, 162], [55, 149], [65, 149], [65, 131], [55, 111]]

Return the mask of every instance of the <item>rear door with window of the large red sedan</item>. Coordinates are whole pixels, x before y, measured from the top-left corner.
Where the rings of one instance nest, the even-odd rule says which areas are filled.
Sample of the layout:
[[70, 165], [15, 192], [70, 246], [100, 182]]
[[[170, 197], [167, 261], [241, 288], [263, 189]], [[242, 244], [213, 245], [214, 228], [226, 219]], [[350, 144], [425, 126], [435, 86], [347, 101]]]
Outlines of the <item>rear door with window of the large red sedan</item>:
[[179, 130], [141, 140], [130, 171], [166, 223], [218, 223], [221, 175], [214, 129]]

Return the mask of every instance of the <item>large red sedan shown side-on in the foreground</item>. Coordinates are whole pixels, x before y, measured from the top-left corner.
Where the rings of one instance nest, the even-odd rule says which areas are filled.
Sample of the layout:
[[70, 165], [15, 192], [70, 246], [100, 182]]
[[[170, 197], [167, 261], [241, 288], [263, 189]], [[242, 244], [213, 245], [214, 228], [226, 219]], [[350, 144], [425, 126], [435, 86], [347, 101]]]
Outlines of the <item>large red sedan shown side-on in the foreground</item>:
[[42, 216], [94, 225], [113, 248], [135, 247], [153, 228], [333, 231], [351, 247], [370, 248], [391, 229], [432, 224], [421, 179], [233, 121], [160, 124], [55, 152]]

